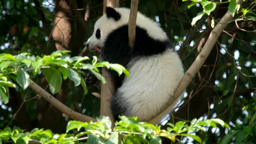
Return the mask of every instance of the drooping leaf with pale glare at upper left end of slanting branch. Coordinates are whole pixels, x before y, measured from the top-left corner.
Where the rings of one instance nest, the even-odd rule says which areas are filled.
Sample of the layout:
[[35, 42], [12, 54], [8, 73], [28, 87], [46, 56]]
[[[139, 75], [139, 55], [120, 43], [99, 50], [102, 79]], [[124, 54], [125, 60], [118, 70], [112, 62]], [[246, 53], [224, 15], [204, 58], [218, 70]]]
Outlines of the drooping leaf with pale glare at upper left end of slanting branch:
[[18, 68], [16, 81], [25, 90], [30, 84], [30, 75], [23, 68]]

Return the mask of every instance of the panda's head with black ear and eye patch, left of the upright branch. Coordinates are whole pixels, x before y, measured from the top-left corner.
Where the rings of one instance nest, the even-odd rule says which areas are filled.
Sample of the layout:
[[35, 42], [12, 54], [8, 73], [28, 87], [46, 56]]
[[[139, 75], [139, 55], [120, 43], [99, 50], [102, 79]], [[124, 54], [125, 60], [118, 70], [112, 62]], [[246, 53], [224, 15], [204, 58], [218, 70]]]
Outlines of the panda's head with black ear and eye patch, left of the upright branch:
[[129, 16], [129, 9], [118, 8], [115, 10], [112, 7], [106, 7], [106, 14], [96, 21], [93, 34], [86, 42], [87, 48], [101, 52], [108, 34], [128, 22], [126, 13]]

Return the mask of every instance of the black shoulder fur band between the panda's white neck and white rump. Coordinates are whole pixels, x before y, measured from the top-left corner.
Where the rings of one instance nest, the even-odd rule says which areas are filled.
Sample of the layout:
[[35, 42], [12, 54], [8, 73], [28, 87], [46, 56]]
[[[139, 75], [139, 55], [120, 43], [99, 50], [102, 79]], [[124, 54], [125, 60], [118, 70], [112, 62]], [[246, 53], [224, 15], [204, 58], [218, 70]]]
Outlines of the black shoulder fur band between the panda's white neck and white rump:
[[145, 29], [136, 26], [135, 44], [131, 49], [128, 46], [128, 25], [124, 25], [109, 33], [102, 48], [102, 57], [104, 61], [126, 66], [135, 57], [157, 55], [171, 48], [169, 40], [153, 39]]

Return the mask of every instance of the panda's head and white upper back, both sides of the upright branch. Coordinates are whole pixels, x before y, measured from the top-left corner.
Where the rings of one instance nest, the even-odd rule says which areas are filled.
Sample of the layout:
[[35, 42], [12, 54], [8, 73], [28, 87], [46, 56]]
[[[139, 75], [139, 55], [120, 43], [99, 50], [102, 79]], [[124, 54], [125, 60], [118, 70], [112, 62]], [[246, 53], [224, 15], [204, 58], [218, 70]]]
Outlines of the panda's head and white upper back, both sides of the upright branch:
[[[93, 34], [86, 42], [87, 48], [101, 52], [108, 35], [118, 27], [128, 24], [129, 15], [130, 9], [128, 8], [118, 7], [114, 9], [106, 7], [106, 13], [96, 21]], [[146, 30], [152, 39], [159, 41], [168, 39], [158, 23], [150, 20], [140, 12], [137, 13], [136, 26]]]

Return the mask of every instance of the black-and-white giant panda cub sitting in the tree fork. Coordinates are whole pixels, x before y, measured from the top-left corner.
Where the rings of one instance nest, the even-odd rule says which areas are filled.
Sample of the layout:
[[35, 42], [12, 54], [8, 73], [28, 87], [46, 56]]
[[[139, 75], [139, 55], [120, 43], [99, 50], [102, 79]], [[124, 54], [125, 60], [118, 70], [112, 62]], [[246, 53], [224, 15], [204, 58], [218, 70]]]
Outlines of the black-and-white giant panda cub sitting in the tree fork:
[[125, 115], [149, 121], [173, 95], [184, 69], [166, 33], [139, 12], [135, 44], [128, 46], [129, 13], [128, 8], [106, 7], [106, 14], [95, 23], [86, 46], [101, 52], [104, 61], [121, 64], [130, 73], [118, 77], [117, 72], [112, 72], [116, 89], [111, 109], [115, 120]]

